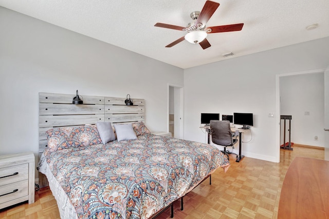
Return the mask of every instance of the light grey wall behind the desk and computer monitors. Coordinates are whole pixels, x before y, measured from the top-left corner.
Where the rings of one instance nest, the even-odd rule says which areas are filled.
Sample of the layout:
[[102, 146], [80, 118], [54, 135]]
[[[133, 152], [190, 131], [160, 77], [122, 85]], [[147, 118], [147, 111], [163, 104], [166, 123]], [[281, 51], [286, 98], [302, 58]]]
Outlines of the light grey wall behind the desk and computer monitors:
[[[251, 112], [252, 141], [243, 144], [242, 154], [277, 162], [276, 118], [268, 117], [268, 113], [276, 112], [276, 74], [328, 66], [326, 37], [185, 69], [184, 136], [205, 142], [205, 133], [199, 128], [201, 112]], [[244, 134], [243, 141], [250, 138], [250, 134]]]

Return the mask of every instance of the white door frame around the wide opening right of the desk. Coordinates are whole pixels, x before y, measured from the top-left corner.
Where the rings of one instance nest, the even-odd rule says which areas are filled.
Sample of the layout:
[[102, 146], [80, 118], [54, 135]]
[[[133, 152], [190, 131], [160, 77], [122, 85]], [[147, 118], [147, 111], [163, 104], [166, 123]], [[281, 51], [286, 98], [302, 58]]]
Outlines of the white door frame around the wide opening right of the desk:
[[315, 69], [315, 70], [308, 70], [308, 71], [297, 71], [291, 73], [283, 73], [283, 74], [276, 74], [276, 162], [280, 163], [280, 78], [286, 76], [294, 76], [294, 75], [302, 75], [302, 74], [317, 74], [323, 73], [325, 69]]

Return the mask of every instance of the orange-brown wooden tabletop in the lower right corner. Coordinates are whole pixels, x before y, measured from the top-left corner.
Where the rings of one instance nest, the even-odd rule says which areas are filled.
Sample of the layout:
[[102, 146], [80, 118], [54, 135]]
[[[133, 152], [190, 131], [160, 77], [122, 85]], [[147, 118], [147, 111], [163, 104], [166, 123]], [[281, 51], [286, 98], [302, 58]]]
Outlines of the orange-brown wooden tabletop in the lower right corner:
[[278, 218], [329, 218], [329, 162], [296, 157], [282, 184]]

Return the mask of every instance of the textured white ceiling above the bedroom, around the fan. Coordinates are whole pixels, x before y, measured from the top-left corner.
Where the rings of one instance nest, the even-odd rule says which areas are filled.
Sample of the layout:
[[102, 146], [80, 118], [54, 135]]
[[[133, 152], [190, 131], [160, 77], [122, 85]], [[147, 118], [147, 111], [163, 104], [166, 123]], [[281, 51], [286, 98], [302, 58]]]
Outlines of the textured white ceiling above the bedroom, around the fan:
[[[220, 7], [206, 26], [244, 27], [209, 34], [205, 50], [187, 41], [165, 48], [186, 32], [154, 25], [186, 26], [206, 1], [0, 0], [0, 6], [183, 69], [329, 36], [328, 0], [214, 1]], [[315, 23], [317, 29], [306, 30]]]

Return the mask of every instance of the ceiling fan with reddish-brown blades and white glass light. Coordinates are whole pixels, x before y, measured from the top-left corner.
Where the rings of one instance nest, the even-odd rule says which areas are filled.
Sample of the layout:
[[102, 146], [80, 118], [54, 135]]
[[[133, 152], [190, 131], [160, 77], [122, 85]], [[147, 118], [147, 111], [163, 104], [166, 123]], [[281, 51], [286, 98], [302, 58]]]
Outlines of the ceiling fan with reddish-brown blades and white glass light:
[[192, 23], [189, 23], [187, 27], [180, 27], [170, 24], [156, 23], [155, 27], [163, 27], [174, 30], [187, 31], [188, 33], [185, 36], [180, 37], [176, 41], [167, 45], [166, 47], [172, 47], [176, 44], [184, 41], [186, 39], [188, 42], [192, 44], [200, 44], [203, 49], [207, 49], [211, 47], [210, 43], [207, 40], [207, 34], [209, 33], [220, 33], [220, 32], [230, 32], [230, 31], [240, 31], [242, 30], [243, 23], [241, 24], [231, 24], [231, 25], [223, 25], [223, 26], [214, 26], [214, 27], [206, 27], [206, 23], [209, 21], [210, 17], [216, 11], [216, 9], [220, 6], [219, 3], [206, 1], [204, 8], [201, 12], [194, 11], [190, 14], [193, 19]]

